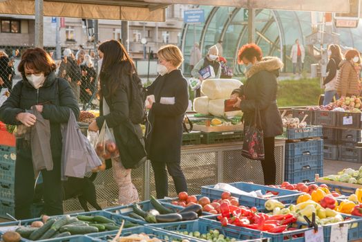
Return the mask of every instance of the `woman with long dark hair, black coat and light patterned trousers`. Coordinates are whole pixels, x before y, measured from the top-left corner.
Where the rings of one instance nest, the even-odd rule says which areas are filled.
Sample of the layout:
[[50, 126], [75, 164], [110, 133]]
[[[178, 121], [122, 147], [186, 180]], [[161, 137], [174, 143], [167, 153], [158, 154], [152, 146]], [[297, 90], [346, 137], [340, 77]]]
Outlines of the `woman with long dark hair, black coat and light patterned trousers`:
[[[131, 169], [126, 169], [135, 156], [145, 156], [142, 145], [142, 129], [131, 118], [133, 84], [137, 73], [131, 57], [119, 41], [106, 41], [99, 46], [104, 54], [100, 79], [100, 116], [89, 125], [90, 131], [98, 131], [104, 122], [113, 130], [120, 157], [112, 159], [113, 176], [119, 187], [120, 205], [138, 201], [138, 193], [131, 181]], [[139, 83], [137, 83], [139, 84]], [[138, 157], [140, 157], [138, 156]]]

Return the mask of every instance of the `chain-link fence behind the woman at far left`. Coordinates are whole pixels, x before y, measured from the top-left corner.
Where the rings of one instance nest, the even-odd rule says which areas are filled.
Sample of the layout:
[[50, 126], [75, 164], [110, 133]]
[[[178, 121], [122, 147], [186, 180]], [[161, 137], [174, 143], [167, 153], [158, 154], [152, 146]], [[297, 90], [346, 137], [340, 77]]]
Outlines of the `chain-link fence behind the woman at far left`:
[[[0, 90], [7, 89], [23, 79], [17, 71], [22, 53], [32, 46], [0, 46]], [[57, 76], [67, 80], [83, 110], [96, 109], [97, 73], [99, 63], [95, 48], [61, 50], [61, 58], [55, 59], [55, 48], [44, 48], [57, 64]], [[64, 55], [65, 54], [65, 55]], [[3, 90], [4, 91], [4, 90]]]

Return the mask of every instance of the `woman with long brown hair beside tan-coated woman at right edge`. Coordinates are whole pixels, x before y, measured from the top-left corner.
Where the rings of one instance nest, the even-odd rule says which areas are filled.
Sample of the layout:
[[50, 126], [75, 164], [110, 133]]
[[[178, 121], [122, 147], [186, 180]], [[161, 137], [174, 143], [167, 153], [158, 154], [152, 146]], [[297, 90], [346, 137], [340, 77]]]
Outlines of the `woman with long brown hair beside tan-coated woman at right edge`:
[[336, 92], [336, 82], [338, 78], [337, 71], [339, 70], [339, 63], [342, 61], [341, 48], [339, 48], [338, 44], [330, 44], [327, 51], [330, 56], [330, 60], [327, 64], [328, 75], [323, 81], [323, 84], [325, 85], [323, 105], [330, 104], [333, 97], [335, 97], [336, 100], [339, 99]]

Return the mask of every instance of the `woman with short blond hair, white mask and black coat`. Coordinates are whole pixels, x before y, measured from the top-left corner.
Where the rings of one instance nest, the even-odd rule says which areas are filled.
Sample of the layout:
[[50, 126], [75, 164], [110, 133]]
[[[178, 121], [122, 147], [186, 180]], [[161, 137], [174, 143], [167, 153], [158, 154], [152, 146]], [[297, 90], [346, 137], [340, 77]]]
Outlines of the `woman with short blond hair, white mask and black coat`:
[[182, 121], [189, 106], [187, 80], [178, 69], [183, 61], [177, 46], [167, 45], [158, 50], [158, 77], [147, 89], [149, 125], [146, 129], [146, 151], [155, 174], [158, 198], [168, 196], [167, 170], [173, 178], [176, 192], [187, 192], [187, 183], [180, 167]]

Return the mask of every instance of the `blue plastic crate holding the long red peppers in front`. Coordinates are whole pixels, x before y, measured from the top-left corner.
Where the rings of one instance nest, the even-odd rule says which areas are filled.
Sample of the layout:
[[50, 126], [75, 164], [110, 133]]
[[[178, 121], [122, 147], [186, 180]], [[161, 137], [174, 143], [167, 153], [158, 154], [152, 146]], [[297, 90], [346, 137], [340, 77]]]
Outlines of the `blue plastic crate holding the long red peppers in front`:
[[[221, 227], [221, 223], [219, 221], [216, 221], [215, 215], [205, 216], [203, 218], [200, 218], [199, 220], [203, 223], [207, 223], [208, 225]], [[240, 236], [242, 237], [249, 237], [252, 239], [270, 238], [271, 242], [305, 242], [304, 237], [293, 238], [293, 236], [297, 234], [304, 234], [307, 230], [311, 229], [301, 229], [273, 234], [268, 232], [261, 232], [260, 230], [251, 230], [246, 227], [238, 227], [236, 225], [227, 225], [226, 227], [221, 227], [221, 230], [228, 230], [232, 234], [240, 234]]]

